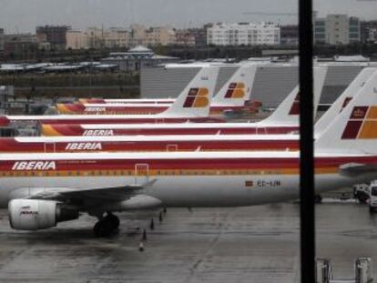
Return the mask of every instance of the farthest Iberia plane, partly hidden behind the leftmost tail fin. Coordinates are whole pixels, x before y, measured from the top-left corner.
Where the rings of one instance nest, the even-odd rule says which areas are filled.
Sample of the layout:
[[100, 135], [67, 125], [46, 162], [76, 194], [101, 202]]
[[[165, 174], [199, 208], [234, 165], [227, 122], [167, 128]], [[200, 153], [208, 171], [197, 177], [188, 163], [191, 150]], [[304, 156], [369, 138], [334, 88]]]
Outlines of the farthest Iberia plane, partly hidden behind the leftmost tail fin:
[[[258, 106], [255, 102], [250, 102], [251, 86], [254, 81], [257, 66], [244, 65], [239, 66], [236, 72], [221, 87], [218, 94], [213, 96], [209, 106], [210, 116], [222, 116], [224, 112], [242, 114], [243, 112], [255, 112]], [[200, 73], [197, 75], [200, 76]], [[195, 79], [193, 80], [195, 81]], [[191, 83], [192, 84], [192, 83]], [[194, 86], [192, 86], [194, 87]], [[129, 100], [129, 99], [128, 99]], [[158, 100], [152, 100], [154, 103], [111, 103], [111, 104], [94, 104], [94, 103], [71, 103], [57, 104], [56, 109], [60, 114], [100, 114], [100, 115], [148, 115], [158, 114], [168, 109], [171, 103], [156, 103]]]

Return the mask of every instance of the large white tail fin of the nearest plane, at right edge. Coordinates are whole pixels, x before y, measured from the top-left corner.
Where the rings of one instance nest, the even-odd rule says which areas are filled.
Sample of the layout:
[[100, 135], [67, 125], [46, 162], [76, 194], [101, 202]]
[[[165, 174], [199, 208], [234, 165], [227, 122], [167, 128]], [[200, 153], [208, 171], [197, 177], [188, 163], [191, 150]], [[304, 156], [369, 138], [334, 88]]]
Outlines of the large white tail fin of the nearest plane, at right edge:
[[377, 154], [377, 72], [317, 139], [316, 149]]

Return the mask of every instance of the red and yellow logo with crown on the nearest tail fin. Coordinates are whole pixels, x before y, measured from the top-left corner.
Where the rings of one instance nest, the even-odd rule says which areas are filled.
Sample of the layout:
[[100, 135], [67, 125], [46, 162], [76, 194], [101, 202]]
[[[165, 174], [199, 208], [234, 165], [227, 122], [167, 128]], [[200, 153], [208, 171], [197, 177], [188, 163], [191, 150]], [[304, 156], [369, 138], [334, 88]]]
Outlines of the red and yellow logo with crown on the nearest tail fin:
[[377, 106], [354, 106], [341, 139], [377, 138]]

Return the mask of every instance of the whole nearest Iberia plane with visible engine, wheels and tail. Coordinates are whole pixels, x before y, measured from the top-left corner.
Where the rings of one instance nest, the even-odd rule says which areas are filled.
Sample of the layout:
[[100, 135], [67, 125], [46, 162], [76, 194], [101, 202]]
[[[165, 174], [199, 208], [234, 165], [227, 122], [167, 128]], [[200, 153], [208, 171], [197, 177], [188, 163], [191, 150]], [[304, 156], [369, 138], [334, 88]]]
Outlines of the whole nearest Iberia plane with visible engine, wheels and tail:
[[[315, 145], [321, 193], [377, 177], [377, 74]], [[55, 227], [86, 212], [97, 236], [117, 211], [244, 207], [299, 197], [300, 155], [290, 151], [0, 154], [0, 207], [11, 227]]]

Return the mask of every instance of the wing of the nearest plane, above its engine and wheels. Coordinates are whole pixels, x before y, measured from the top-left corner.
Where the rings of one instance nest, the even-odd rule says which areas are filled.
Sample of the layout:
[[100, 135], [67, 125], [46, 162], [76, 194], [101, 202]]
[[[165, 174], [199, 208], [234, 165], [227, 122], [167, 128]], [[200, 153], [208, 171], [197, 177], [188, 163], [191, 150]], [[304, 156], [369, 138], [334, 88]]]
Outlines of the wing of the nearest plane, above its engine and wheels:
[[97, 188], [44, 188], [31, 194], [28, 199], [46, 199], [57, 201], [120, 201], [138, 195], [138, 192], [156, 183], [156, 179], [143, 185], [126, 185], [122, 187], [97, 187]]

